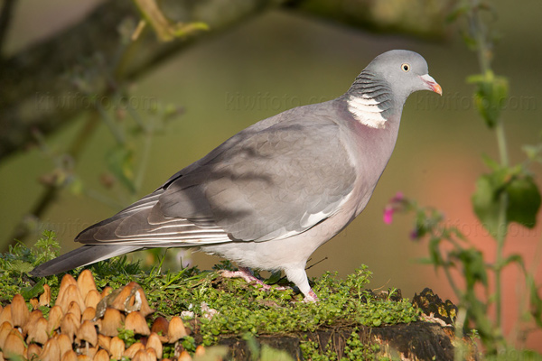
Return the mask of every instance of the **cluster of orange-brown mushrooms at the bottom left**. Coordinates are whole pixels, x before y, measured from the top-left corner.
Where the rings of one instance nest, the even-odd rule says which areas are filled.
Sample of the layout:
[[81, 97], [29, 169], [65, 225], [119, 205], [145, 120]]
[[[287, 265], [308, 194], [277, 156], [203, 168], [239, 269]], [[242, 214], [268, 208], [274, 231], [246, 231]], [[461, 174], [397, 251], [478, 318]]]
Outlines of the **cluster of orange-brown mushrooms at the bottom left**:
[[[98, 292], [92, 273], [85, 270], [76, 281], [66, 274], [55, 305], [46, 319], [41, 306], [50, 306], [51, 289], [44, 285], [39, 299], [27, 307], [23, 296], [14, 296], [11, 304], [0, 306], [0, 361], [9, 356], [43, 361], [108, 361], [127, 357], [136, 361], [163, 358], [164, 344], [178, 344], [188, 335], [182, 319], [175, 316], [154, 319], [149, 328], [145, 318], [154, 312], [145, 292], [135, 282], [112, 290]], [[118, 338], [118, 329], [141, 335], [130, 347]], [[192, 360], [180, 347], [175, 359]], [[197, 354], [204, 353], [200, 347]]]

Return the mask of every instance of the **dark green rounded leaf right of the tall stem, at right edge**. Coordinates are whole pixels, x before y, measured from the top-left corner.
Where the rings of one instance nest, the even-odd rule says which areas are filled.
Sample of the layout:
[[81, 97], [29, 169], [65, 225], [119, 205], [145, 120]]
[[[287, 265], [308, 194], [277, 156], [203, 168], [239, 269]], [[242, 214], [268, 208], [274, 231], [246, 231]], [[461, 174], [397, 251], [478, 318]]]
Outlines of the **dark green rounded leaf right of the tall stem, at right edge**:
[[540, 208], [540, 192], [537, 184], [529, 175], [514, 178], [506, 187], [509, 194], [507, 218], [522, 226], [533, 228], [537, 224]]

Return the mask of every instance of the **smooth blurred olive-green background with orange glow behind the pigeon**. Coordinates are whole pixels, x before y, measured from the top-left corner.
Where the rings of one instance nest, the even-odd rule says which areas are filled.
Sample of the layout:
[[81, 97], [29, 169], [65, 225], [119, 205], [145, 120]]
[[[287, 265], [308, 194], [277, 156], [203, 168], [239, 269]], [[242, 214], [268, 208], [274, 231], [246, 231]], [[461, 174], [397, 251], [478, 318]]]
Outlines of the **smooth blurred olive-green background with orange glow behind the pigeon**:
[[[21, 0], [8, 51], [19, 51], [77, 22], [94, 4]], [[493, 67], [509, 78], [510, 99], [503, 116], [511, 160], [520, 162], [524, 159], [521, 145], [537, 143], [542, 131], [542, 3], [524, 0], [519, 6], [500, 0], [494, 6], [496, 18], [492, 24], [500, 32], [500, 42]], [[138, 196], [153, 191], [175, 171], [260, 119], [293, 106], [338, 97], [370, 60], [391, 49], [422, 54], [444, 95], [418, 92], [407, 100], [395, 153], [369, 206], [350, 227], [317, 250], [309, 264], [324, 257], [327, 260], [308, 273], [317, 276], [330, 270], [344, 276], [360, 264], [367, 264], [373, 272], [370, 287], [374, 289], [393, 286], [411, 298], [414, 292], [430, 287], [442, 298], [453, 300], [443, 274], [416, 264], [416, 259], [427, 254], [427, 246], [409, 239], [412, 218], [397, 216], [392, 225], [382, 221], [388, 199], [402, 191], [423, 205], [442, 209], [490, 260], [493, 257], [492, 240], [477, 224], [470, 198], [474, 181], [485, 170], [481, 154], [496, 157], [496, 143], [472, 106], [473, 88], [465, 82], [467, 76], [478, 71], [475, 55], [453, 27], [445, 42], [421, 42], [274, 11], [182, 52], [138, 80], [131, 92], [134, 97], [179, 105], [185, 111], [164, 134], [154, 137]], [[80, 125], [80, 120], [74, 122], [48, 139], [51, 150], [61, 149]], [[100, 126], [76, 172], [87, 189], [114, 199], [117, 206], [63, 191], [42, 219], [42, 227], [58, 232], [62, 253], [77, 246], [72, 240], [82, 228], [111, 216], [121, 204], [134, 200], [126, 193], [119, 195], [119, 187], [103, 190], [100, 185], [107, 150], [115, 144], [107, 127]], [[36, 149], [0, 164], [2, 241], [41, 193], [38, 179], [53, 167], [51, 159]], [[540, 176], [540, 169], [536, 171]], [[513, 227], [506, 248], [507, 253], [526, 257], [538, 282], [542, 281], [540, 230]], [[192, 261], [201, 269], [209, 269], [217, 258], [196, 254]], [[521, 301], [517, 296], [519, 273], [510, 269], [504, 273], [504, 281], [505, 329], [514, 332]], [[528, 346], [542, 349], [541, 342], [542, 334], [538, 332], [531, 335]]]

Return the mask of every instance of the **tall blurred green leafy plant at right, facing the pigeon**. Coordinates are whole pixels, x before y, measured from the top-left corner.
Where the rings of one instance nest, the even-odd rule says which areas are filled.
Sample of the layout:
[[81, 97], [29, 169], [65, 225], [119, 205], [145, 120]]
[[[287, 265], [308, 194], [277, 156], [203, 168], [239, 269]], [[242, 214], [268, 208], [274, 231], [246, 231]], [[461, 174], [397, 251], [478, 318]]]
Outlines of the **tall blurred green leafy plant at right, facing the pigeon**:
[[[463, 313], [466, 312], [464, 326], [467, 329], [476, 329], [488, 355], [495, 359], [504, 359], [501, 355], [509, 351], [509, 346], [501, 329], [500, 276], [502, 270], [510, 264], [517, 265], [525, 277], [528, 290], [526, 298], [529, 300], [529, 312], [523, 312], [527, 316], [525, 319], [542, 328], [542, 299], [533, 274], [525, 268], [521, 255], [504, 255], [504, 245], [511, 223], [529, 228], [536, 226], [541, 198], [528, 166], [533, 162], [542, 163], [542, 142], [524, 147], [528, 155], [526, 162], [509, 164], [501, 116], [509, 93], [509, 81], [495, 75], [491, 69], [493, 35], [481, 17], [481, 14], [488, 10], [494, 11], [490, 3], [463, 0], [449, 16], [449, 20], [465, 22], [463, 39], [472, 51], [476, 51], [481, 68], [481, 74], [469, 77], [467, 81], [475, 85], [475, 105], [484, 123], [494, 132], [499, 149], [498, 161], [484, 157], [483, 161], [490, 171], [482, 174], [476, 181], [476, 190], [472, 195], [474, 213], [494, 240], [495, 259], [489, 261], [459, 229], [445, 224], [442, 214], [434, 208], [421, 208], [413, 200], [396, 196], [387, 209], [415, 212], [415, 230], [411, 236], [415, 239], [429, 239], [429, 258], [424, 262], [444, 271], [459, 300], [460, 312], [461, 309]], [[385, 211], [385, 220], [388, 218], [389, 210], [388, 214]], [[451, 270], [454, 268], [463, 274], [464, 282], [461, 286], [457, 285], [452, 277]], [[490, 274], [494, 278], [494, 286], [488, 282]], [[477, 291], [482, 291], [483, 297], [480, 297], [480, 292]], [[488, 314], [490, 306], [495, 308], [494, 318]], [[458, 325], [459, 329], [462, 327], [463, 325]], [[528, 329], [524, 332], [528, 332]], [[528, 352], [520, 352], [519, 355], [520, 359], [530, 357]]]

